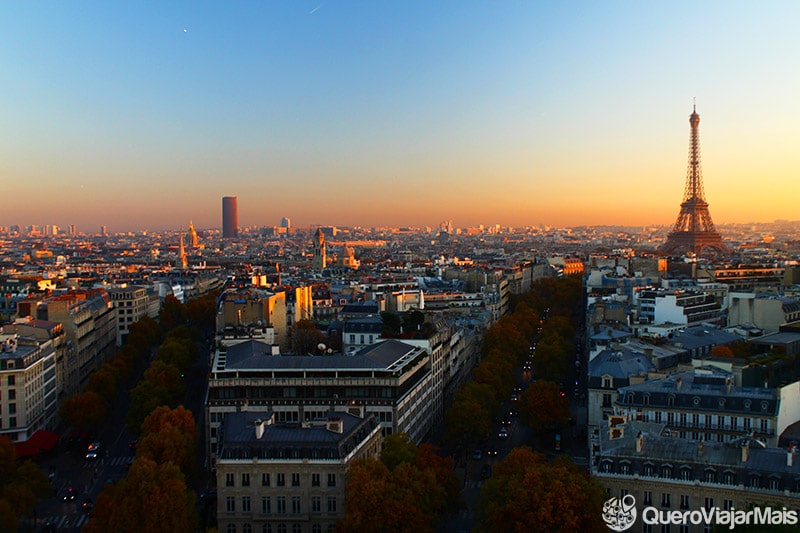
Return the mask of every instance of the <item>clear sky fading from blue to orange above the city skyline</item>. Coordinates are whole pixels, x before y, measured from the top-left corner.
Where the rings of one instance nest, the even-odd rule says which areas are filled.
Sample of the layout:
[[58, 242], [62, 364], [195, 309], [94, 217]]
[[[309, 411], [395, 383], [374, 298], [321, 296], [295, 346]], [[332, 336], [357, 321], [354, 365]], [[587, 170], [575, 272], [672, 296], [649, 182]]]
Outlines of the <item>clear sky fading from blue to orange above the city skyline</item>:
[[0, 225], [797, 219], [796, 2], [0, 5]]

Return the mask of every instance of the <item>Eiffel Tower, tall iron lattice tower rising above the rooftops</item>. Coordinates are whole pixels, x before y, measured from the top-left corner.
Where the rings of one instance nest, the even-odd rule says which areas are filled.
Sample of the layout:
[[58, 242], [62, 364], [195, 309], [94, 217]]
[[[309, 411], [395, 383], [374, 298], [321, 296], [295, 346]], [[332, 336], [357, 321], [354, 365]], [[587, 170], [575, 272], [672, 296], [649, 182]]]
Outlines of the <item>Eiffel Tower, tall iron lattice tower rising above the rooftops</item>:
[[661, 251], [667, 254], [691, 252], [699, 255], [710, 248], [724, 253], [727, 247], [714, 228], [711, 214], [708, 212], [708, 202], [703, 195], [703, 171], [700, 167], [698, 134], [700, 115], [697, 114], [696, 107], [692, 108], [692, 114], [689, 115], [689, 124], [692, 129], [689, 141], [689, 166], [686, 169], [686, 190], [683, 193], [678, 220]]

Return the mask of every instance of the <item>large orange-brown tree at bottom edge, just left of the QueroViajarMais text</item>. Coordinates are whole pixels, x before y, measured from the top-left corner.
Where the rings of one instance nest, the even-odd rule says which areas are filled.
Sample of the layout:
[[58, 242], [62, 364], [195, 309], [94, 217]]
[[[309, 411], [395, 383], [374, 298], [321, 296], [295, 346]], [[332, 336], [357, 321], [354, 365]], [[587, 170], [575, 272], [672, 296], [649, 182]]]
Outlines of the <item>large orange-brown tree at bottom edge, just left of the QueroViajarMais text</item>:
[[513, 449], [481, 487], [478, 533], [607, 531], [605, 490], [567, 456], [552, 463], [530, 448]]

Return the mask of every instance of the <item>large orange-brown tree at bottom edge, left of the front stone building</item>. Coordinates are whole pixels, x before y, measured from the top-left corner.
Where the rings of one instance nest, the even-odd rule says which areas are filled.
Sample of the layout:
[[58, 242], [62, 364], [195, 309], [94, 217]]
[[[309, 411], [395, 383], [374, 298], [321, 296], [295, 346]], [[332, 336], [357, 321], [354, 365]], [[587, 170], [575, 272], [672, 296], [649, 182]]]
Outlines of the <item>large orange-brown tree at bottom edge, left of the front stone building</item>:
[[128, 475], [97, 498], [83, 531], [192, 532], [198, 524], [195, 494], [174, 464], [137, 458]]

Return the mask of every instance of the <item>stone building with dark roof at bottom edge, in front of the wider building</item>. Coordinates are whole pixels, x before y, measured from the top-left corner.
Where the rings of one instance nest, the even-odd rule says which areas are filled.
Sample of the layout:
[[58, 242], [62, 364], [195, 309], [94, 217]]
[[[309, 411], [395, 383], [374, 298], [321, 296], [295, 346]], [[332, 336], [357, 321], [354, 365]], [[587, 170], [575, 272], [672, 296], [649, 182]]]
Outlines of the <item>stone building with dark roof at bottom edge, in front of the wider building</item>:
[[272, 411], [228, 413], [216, 454], [217, 529], [225, 533], [334, 531], [347, 469], [377, 457], [373, 416], [326, 411], [303, 423]]

